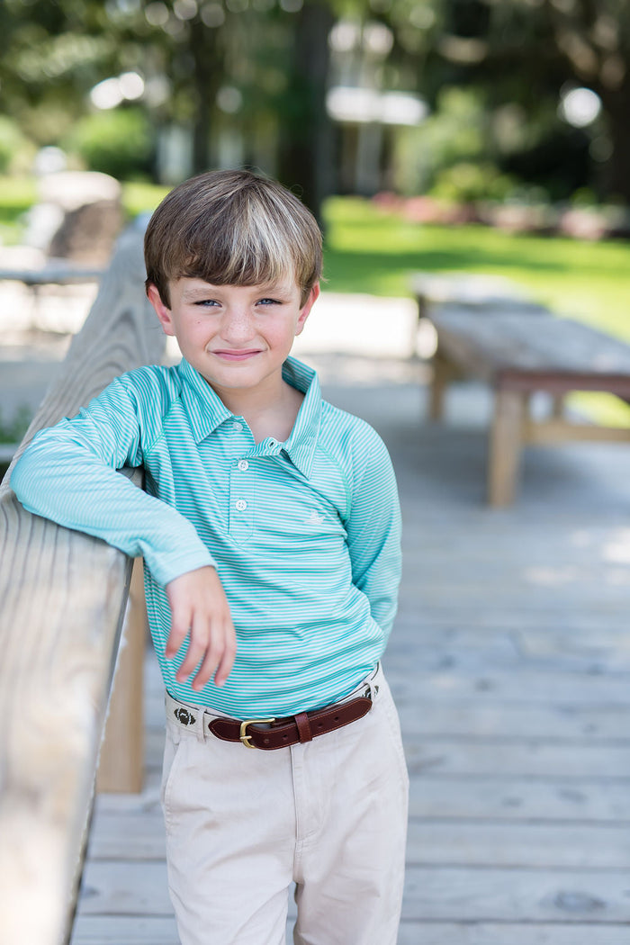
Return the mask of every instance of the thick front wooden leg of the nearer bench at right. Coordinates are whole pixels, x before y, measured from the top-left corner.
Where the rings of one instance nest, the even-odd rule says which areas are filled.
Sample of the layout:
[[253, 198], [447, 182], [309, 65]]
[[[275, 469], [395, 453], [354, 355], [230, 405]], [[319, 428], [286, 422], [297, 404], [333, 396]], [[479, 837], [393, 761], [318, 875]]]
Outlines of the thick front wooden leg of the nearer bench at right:
[[487, 492], [490, 506], [514, 502], [519, 475], [527, 395], [497, 389], [488, 449]]

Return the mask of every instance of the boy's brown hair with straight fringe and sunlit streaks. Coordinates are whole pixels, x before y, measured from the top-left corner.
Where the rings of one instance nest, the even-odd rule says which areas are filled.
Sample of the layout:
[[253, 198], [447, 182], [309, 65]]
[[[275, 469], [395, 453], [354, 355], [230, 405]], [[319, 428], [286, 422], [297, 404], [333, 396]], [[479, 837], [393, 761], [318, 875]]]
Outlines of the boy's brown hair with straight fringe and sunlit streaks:
[[322, 239], [315, 217], [275, 180], [250, 171], [209, 171], [163, 200], [145, 233], [146, 287], [170, 305], [169, 281], [258, 285], [289, 273], [301, 304], [319, 279]]

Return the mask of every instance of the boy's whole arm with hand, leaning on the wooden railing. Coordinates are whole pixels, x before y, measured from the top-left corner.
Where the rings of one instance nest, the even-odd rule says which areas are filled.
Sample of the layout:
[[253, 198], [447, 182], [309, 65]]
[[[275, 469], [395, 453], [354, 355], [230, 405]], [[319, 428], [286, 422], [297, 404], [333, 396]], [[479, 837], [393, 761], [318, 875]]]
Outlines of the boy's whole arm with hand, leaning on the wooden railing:
[[175, 508], [116, 472], [142, 461], [138, 412], [117, 380], [76, 418], [42, 430], [16, 463], [10, 485], [28, 511], [103, 539], [130, 557], [142, 555], [171, 607], [168, 656], [190, 630], [178, 678], [186, 679], [201, 662], [194, 688], [217, 666], [215, 682], [221, 684], [233, 662], [235, 637], [213, 558]]

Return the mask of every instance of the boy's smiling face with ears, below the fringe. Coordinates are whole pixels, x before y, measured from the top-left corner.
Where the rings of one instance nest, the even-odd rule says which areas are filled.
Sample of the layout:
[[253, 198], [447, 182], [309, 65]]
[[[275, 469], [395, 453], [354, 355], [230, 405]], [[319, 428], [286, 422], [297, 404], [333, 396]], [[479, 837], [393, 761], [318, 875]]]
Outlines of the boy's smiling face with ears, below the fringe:
[[222, 389], [271, 392], [280, 384], [282, 363], [319, 295], [315, 285], [302, 305], [290, 277], [265, 285], [183, 277], [169, 288], [170, 307], [155, 285], [149, 285], [149, 301], [164, 332], [177, 338], [188, 363], [219, 395]]

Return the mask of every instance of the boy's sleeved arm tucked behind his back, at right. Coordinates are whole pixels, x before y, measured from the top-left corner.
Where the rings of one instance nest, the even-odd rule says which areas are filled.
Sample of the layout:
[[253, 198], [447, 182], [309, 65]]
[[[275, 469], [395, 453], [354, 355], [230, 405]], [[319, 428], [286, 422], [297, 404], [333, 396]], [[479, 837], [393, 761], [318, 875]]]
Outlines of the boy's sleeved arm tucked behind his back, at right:
[[366, 594], [372, 617], [389, 635], [400, 584], [400, 504], [391, 459], [376, 435], [352, 489], [346, 531], [352, 581]]

